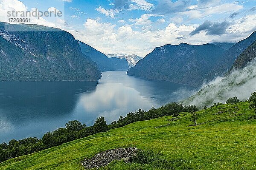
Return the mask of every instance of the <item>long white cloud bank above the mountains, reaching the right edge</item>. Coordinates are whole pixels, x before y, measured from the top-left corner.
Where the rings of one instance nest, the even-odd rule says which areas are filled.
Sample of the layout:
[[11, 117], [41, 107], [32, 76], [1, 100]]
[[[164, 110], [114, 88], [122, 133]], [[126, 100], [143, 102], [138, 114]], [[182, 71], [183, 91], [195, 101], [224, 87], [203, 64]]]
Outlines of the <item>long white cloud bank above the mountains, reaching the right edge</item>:
[[[198, 27], [195, 24], [170, 23], [165, 28], [154, 28], [149, 20], [151, 14], [132, 19], [132, 25], [116, 27], [112, 23], [102, 23], [100, 20], [87, 19], [84, 30], [70, 31], [77, 39], [92, 45], [106, 54], [126, 53], [145, 56], [157, 46], [165, 44], [204, 44], [208, 42], [238, 42], [248, 37], [256, 28], [255, 15], [248, 15], [231, 23], [226, 34], [222, 36], [206, 35], [205, 32], [190, 36]], [[161, 19], [160, 19], [161, 20]], [[163, 22], [163, 21], [162, 21]], [[148, 25], [151, 23], [151, 25]], [[254, 30], [255, 31], [255, 30]], [[180, 38], [182, 37], [182, 38]]]

